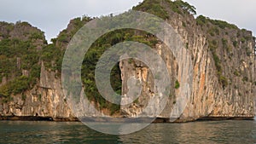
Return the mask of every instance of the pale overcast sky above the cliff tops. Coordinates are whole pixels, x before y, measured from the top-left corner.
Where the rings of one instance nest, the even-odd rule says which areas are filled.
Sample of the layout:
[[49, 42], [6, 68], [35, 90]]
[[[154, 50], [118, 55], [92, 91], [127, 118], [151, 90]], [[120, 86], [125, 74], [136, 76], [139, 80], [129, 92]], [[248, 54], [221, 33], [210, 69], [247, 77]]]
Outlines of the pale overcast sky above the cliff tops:
[[[255, 0], [185, 0], [196, 7], [197, 14], [226, 20], [256, 35]], [[143, 0], [0, 0], [0, 21], [27, 21], [56, 37], [69, 20], [82, 16], [121, 13]]]

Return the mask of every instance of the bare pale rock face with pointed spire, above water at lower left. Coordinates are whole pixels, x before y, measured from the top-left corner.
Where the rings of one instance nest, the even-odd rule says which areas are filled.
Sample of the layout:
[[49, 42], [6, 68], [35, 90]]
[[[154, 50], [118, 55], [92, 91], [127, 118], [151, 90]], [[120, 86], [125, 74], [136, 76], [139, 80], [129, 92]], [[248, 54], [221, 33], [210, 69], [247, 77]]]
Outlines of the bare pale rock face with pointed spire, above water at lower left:
[[2, 108], [0, 107], [1, 114], [52, 117], [56, 120], [74, 119], [62, 93], [60, 78], [55, 78], [55, 72], [45, 70], [44, 62], [42, 62], [39, 84], [23, 95], [15, 95], [13, 101], [3, 103]]

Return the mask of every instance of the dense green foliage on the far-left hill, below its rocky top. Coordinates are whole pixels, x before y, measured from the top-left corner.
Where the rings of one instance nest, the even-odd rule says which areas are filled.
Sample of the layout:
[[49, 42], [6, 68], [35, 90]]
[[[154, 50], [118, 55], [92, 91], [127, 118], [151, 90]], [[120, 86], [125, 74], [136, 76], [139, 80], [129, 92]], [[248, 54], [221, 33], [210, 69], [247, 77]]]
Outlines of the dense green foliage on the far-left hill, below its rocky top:
[[0, 83], [3, 78], [10, 79], [0, 87], [0, 95], [7, 99], [10, 99], [11, 94], [20, 94], [32, 88], [40, 77], [40, 53], [33, 40], [42, 38], [43, 33], [35, 33], [33, 32], [28, 40], [6, 36], [0, 41]]

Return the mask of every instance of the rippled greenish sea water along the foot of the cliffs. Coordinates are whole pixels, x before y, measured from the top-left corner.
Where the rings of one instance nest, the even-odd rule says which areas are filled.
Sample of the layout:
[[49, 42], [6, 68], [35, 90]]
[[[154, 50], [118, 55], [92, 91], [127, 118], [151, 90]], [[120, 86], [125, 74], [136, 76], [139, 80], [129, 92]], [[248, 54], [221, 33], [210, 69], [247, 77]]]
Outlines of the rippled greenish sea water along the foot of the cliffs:
[[255, 143], [255, 121], [150, 124], [131, 135], [106, 135], [81, 123], [0, 121], [0, 143]]

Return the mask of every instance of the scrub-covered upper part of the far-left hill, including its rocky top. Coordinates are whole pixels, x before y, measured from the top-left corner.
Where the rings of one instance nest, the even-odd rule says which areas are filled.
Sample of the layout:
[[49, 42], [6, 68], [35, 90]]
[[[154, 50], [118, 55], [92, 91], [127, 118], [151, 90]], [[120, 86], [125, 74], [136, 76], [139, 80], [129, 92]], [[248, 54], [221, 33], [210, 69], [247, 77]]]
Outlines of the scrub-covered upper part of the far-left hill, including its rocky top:
[[1, 22], [0, 27], [7, 29], [0, 37], [0, 95], [7, 101], [10, 95], [22, 94], [37, 83], [40, 51], [46, 41], [44, 32], [27, 22]]

